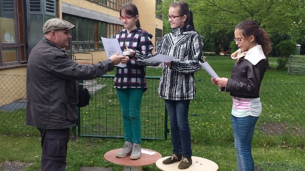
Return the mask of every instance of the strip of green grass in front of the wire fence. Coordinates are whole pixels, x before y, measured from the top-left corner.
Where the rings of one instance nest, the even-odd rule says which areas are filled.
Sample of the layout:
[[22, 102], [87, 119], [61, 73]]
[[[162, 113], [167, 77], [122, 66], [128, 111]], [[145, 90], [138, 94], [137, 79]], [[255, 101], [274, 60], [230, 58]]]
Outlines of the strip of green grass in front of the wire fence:
[[[123, 140], [78, 138], [70, 141], [68, 147], [67, 170], [79, 170], [82, 166], [110, 167], [121, 170], [123, 167], [112, 164], [103, 158], [109, 150], [121, 148]], [[5, 160], [33, 163], [27, 170], [40, 169], [41, 147], [38, 137], [0, 137], [0, 162]], [[164, 140], [144, 140], [142, 148], [153, 149], [167, 156], [171, 154], [171, 142]], [[235, 150], [232, 142], [223, 145], [193, 143], [193, 155], [216, 162], [220, 171], [236, 170]], [[305, 149], [281, 146], [253, 146], [255, 165], [261, 170], [295, 171], [305, 170], [303, 156]], [[143, 170], [159, 170], [156, 165], [144, 166]]]

